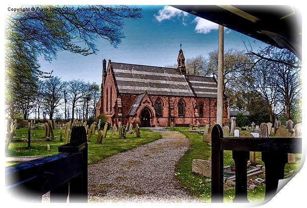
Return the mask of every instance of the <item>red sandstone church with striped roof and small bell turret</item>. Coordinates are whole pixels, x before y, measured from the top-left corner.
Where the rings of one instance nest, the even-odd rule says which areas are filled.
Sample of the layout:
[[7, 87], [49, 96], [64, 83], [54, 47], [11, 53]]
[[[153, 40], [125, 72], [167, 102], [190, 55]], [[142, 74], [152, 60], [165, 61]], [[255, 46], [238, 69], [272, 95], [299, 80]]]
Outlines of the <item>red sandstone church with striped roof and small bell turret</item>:
[[[178, 67], [117, 63], [103, 59], [101, 97], [96, 116], [107, 122], [138, 123], [142, 127], [211, 124], [216, 120], [217, 82], [213, 77], [186, 74], [182, 50]], [[223, 123], [227, 121], [224, 101]]]

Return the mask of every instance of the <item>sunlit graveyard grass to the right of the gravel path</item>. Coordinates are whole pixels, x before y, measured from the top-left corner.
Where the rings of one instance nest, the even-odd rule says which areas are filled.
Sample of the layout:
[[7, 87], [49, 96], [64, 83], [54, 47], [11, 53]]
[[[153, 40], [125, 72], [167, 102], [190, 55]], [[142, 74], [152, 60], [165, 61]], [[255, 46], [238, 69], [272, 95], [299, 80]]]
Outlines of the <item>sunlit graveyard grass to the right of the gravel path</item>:
[[[190, 149], [176, 165], [175, 176], [181, 185], [191, 194], [199, 197], [205, 202], [211, 202], [211, 179], [192, 172], [193, 159], [205, 159], [211, 161], [211, 146], [203, 142], [203, 135], [188, 132], [189, 127], [175, 127], [174, 131], [184, 134], [191, 142]], [[201, 128], [204, 129], [204, 128]], [[224, 166], [230, 165], [232, 152], [224, 151]], [[261, 153], [256, 153], [256, 160], [264, 164], [261, 160]], [[299, 164], [286, 164], [285, 172], [289, 170], [298, 171]], [[259, 176], [257, 176], [259, 177]], [[226, 184], [227, 185], [227, 184]], [[248, 191], [250, 202], [261, 202], [264, 200], [265, 185], [257, 186], [254, 190]], [[224, 190], [224, 202], [232, 202], [235, 196], [235, 189]]]

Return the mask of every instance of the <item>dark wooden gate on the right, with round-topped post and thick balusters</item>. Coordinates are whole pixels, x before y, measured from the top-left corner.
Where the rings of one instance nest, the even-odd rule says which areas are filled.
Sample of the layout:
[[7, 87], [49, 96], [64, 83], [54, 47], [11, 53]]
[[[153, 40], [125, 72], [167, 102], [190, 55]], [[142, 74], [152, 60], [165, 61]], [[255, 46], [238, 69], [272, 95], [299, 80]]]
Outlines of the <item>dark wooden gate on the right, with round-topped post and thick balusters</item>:
[[302, 153], [302, 138], [223, 138], [223, 130], [216, 124], [212, 129], [211, 201], [223, 202], [223, 151], [232, 151], [236, 163], [236, 188], [233, 202], [247, 199], [247, 161], [249, 152], [261, 152], [265, 165], [265, 201], [277, 191], [278, 181], [284, 178], [288, 153]]

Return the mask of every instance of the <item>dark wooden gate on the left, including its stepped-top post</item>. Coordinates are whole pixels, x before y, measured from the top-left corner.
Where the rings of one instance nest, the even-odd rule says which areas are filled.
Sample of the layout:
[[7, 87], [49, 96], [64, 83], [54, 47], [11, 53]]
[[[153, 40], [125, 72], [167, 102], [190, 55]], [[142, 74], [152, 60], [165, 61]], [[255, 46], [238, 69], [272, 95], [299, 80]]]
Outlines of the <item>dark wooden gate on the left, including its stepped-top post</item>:
[[50, 201], [87, 203], [88, 144], [84, 126], [72, 127], [70, 143], [58, 147], [60, 154], [5, 168], [9, 195], [28, 202], [41, 202], [50, 191]]

